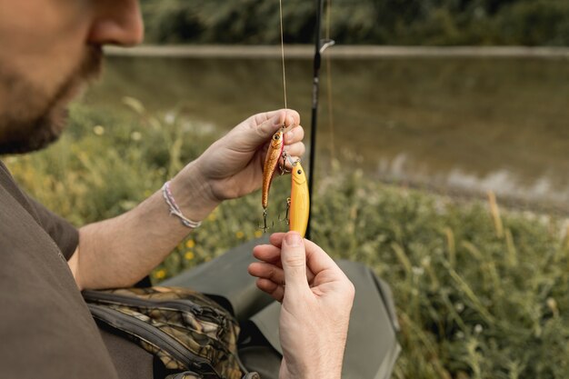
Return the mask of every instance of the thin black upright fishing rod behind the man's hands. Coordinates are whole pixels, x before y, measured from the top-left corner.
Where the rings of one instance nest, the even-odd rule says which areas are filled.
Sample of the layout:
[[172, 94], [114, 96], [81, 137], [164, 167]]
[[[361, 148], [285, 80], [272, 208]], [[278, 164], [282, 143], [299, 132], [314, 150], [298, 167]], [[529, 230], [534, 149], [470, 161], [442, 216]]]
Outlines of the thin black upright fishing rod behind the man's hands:
[[[316, 27], [315, 27], [315, 49], [314, 49], [314, 72], [312, 79], [312, 121], [310, 125], [310, 163], [308, 170], [308, 194], [311, 199], [314, 199], [313, 186], [314, 186], [314, 156], [316, 155], [316, 128], [318, 122], [318, 94], [320, 90], [320, 66], [322, 64], [322, 54], [324, 50], [334, 45], [332, 39], [322, 39], [322, 15], [324, 13], [324, 1], [316, 0]], [[310, 239], [312, 228], [310, 227], [312, 221], [312, 203], [309, 204], [309, 217], [308, 225], [306, 227], [306, 238]]]

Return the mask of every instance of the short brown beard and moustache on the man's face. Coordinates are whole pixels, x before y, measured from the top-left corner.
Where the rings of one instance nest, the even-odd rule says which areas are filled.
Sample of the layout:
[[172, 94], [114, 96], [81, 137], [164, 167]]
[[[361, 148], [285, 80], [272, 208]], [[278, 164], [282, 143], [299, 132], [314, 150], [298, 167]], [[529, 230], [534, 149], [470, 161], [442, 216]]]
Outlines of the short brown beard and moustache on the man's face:
[[87, 46], [79, 65], [51, 98], [23, 75], [3, 72], [0, 66], [0, 85], [9, 88], [8, 102], [15, 105], [0, 114], [0, 155], [27, 153], [54, 142], [65, 128], [66, 105], [85, 82], [100, 74], [102, 60], [100, 46]]

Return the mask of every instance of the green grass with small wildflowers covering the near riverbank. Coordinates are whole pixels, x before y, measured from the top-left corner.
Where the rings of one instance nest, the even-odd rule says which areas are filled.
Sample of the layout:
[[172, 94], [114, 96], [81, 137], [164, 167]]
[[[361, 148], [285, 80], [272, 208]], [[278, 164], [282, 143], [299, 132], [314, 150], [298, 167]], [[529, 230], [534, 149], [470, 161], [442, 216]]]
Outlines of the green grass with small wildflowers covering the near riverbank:
[[[126, 103], [134, 113], [75, 105], [60, 142], [5, 162], [36, 198], [80, 225], [131, 209], [219, 136], [175, 113], [148, 115]], [[314, 241], [391, 284], [403, 345], [394, 378], [569, 377], [562, 220], [383, 185], [341, 168], [351, 165], [334, 161], [319, 176]], [[275, 181], [273, 204], [287, 187]], [[156, 268], [155, 280], [258, 236], [259, 203], [252, 194], [222, 204]]]

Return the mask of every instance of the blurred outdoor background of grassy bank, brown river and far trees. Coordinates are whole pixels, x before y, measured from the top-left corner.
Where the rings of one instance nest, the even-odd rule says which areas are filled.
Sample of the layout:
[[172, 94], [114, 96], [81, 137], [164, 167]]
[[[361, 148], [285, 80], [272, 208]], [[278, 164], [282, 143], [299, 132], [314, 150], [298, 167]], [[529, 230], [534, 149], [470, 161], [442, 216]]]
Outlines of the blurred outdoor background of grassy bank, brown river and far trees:
[[[77, 225], [284, 106], [277, 0], [142, 9], [147, 46], [109, 49], [64, 138], [7, 159]], [[283, 0], [288, 106], [307, 132], [315, 15]], [[394, 378], [569, 377], [569, 1], [332, 0], [324, 35], [313, 239], [392, 286]], [[289, 187], [275, 180], [275, 230]], [[261, 216], [260, 194], [223, 204], [153, 280], [260, 237]]]

